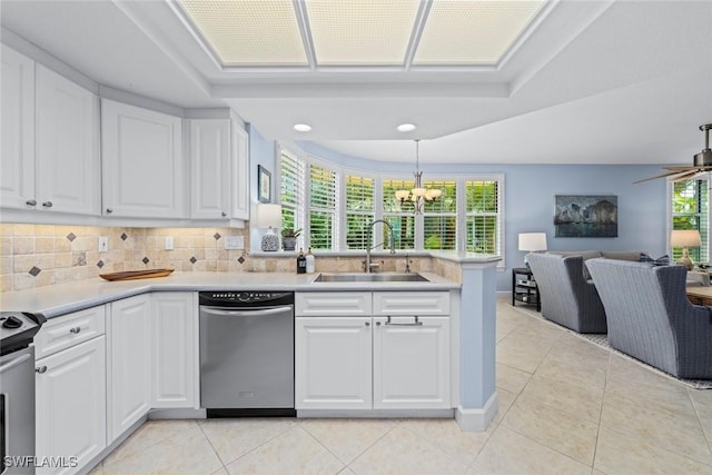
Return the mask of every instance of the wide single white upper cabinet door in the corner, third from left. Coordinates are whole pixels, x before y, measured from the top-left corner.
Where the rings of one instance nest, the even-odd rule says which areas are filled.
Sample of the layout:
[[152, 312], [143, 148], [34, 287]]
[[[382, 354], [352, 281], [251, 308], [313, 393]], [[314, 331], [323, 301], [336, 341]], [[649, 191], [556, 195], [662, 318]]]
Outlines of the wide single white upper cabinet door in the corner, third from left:
[[101, 101], [103, 212], [184, 218], [181, 119]]

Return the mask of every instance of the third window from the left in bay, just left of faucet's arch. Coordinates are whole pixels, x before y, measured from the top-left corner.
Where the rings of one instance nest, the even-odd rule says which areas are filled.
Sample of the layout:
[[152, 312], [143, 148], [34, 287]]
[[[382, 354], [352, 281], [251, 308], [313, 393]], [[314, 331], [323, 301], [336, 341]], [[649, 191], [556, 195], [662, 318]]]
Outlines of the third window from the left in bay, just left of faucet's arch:
[[[373, 178], [348, 175], [346, 177], [346, 248], [365, 249], [368, 239], [367, 226], [375, 218]], [[370, 245], [370, 243], [368, 243]]]

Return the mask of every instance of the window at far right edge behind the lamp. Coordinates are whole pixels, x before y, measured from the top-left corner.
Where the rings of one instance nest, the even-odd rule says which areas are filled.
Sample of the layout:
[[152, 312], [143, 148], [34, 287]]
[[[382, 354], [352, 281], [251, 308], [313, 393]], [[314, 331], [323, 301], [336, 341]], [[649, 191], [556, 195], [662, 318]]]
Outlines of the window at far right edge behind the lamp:
[[[709, 256], [709, 177], [672, 182], [672, 229], [696, 229], [702, 246], [690, 248], [690, 258], [694, 263], [708, 263]], [[682, 248], [672, 249], [672, 259], [682, 256]]]

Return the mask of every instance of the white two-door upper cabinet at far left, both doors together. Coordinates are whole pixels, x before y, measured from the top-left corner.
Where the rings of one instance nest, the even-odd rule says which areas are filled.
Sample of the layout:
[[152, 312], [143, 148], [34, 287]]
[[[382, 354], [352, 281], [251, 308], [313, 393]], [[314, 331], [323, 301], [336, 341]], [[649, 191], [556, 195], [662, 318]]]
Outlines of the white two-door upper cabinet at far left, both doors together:
[[2, 206], [99, 214], [96, 95], [2, 47]]

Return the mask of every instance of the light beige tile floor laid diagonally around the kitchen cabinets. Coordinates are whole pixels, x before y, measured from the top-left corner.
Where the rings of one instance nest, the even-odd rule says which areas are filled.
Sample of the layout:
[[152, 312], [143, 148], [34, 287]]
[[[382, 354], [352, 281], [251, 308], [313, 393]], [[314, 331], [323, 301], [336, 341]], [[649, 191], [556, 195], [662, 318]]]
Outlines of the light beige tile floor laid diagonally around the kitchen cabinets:
[[712, 390], [497, 304], [500, 412], [443, 419], [150, 420], [109, 474], [712, 474]]

